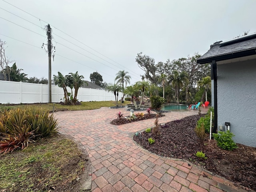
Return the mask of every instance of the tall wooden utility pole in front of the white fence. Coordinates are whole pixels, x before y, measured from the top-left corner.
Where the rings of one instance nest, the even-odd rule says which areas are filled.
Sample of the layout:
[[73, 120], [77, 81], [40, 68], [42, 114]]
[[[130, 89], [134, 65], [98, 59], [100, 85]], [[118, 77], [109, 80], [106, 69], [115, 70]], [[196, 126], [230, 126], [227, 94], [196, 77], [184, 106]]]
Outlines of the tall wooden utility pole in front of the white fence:
[[47, 25], [47, 38], [48, 38], [48, 88], [49, 88], [49, 99], [48, 102], [52, 102], [52, 29], [50, 24]]

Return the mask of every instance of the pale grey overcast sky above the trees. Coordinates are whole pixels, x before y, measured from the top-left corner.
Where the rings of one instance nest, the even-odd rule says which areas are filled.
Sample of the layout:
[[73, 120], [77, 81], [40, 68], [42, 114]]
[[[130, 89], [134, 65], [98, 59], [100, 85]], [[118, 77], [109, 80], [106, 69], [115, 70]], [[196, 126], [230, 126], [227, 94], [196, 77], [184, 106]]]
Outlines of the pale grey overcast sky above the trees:
[[48, 54], [41, 46], [49, 23], [56, 47], [52, 75], [78, 71], [90, 81], [98, 71], [114, 83], [125, 70], [133, 84], [144, 74], [137, 53], [156, 63], [204, 54], [216, 41], [256, 32], [255, 8], [256, 0], [0, 0], [0, 39], [28, 77], [48, 78]]

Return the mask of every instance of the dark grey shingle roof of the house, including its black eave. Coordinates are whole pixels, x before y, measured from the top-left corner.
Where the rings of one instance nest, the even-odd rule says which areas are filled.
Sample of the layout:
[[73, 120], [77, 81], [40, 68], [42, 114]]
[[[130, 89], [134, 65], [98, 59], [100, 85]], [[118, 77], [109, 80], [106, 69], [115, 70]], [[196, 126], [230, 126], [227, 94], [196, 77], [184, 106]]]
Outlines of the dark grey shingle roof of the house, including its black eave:
[[241, 56], [256, 54], [256, 34], [244, 38], [235, 38], [226, 42], [216, 42], [210, 46], [210, 50], [198, 58], [198, 63], [207, 63], [212, 60], [220, 61]]

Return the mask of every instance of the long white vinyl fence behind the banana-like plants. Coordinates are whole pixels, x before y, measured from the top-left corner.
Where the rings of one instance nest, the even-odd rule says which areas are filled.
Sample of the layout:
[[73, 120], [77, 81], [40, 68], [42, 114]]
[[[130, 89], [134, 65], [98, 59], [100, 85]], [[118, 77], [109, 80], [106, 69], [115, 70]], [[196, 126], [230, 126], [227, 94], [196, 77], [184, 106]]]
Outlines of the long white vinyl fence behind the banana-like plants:
[[[71, 92], [70, 88], [68, 88], [68, 92]], [[122, 96], [122, 93], [119, 93], [118, 100]], [[60, 102], [60, 99], [63, 99], [63, 97], [63, 89], [52, 85], [52, 102]], [[79, 101], [114, 101], [115, 96], [113, 92], [105, 90], [79, 88], [77, 99]], [[0, 80], [0, 103], [2, 104], [47, 102], [48, 85]]]

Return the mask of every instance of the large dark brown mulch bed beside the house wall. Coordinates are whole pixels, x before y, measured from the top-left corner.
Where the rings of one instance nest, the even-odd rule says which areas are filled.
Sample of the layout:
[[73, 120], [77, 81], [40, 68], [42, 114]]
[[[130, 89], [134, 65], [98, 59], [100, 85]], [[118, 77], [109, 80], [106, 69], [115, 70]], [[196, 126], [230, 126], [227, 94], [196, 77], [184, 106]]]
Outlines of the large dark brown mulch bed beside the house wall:
[[[204, 115], [195, 115], [166, 123], [161, 126], [161, 135], [150, 145], [148, 138], [152, 133], [142, 132], [141, 138], [134, 140], [143, 148], [160, 156], [189, 160], [203, 168], [223, 176], [236, 185], [256, 191], [256, 148], [237, 144], [233, 151], [219, 148], [215, 140], [202, 141], [194, 132], [197, 120]], [[207, 159], [200, 159], [194, 154], [202, 151]]]

